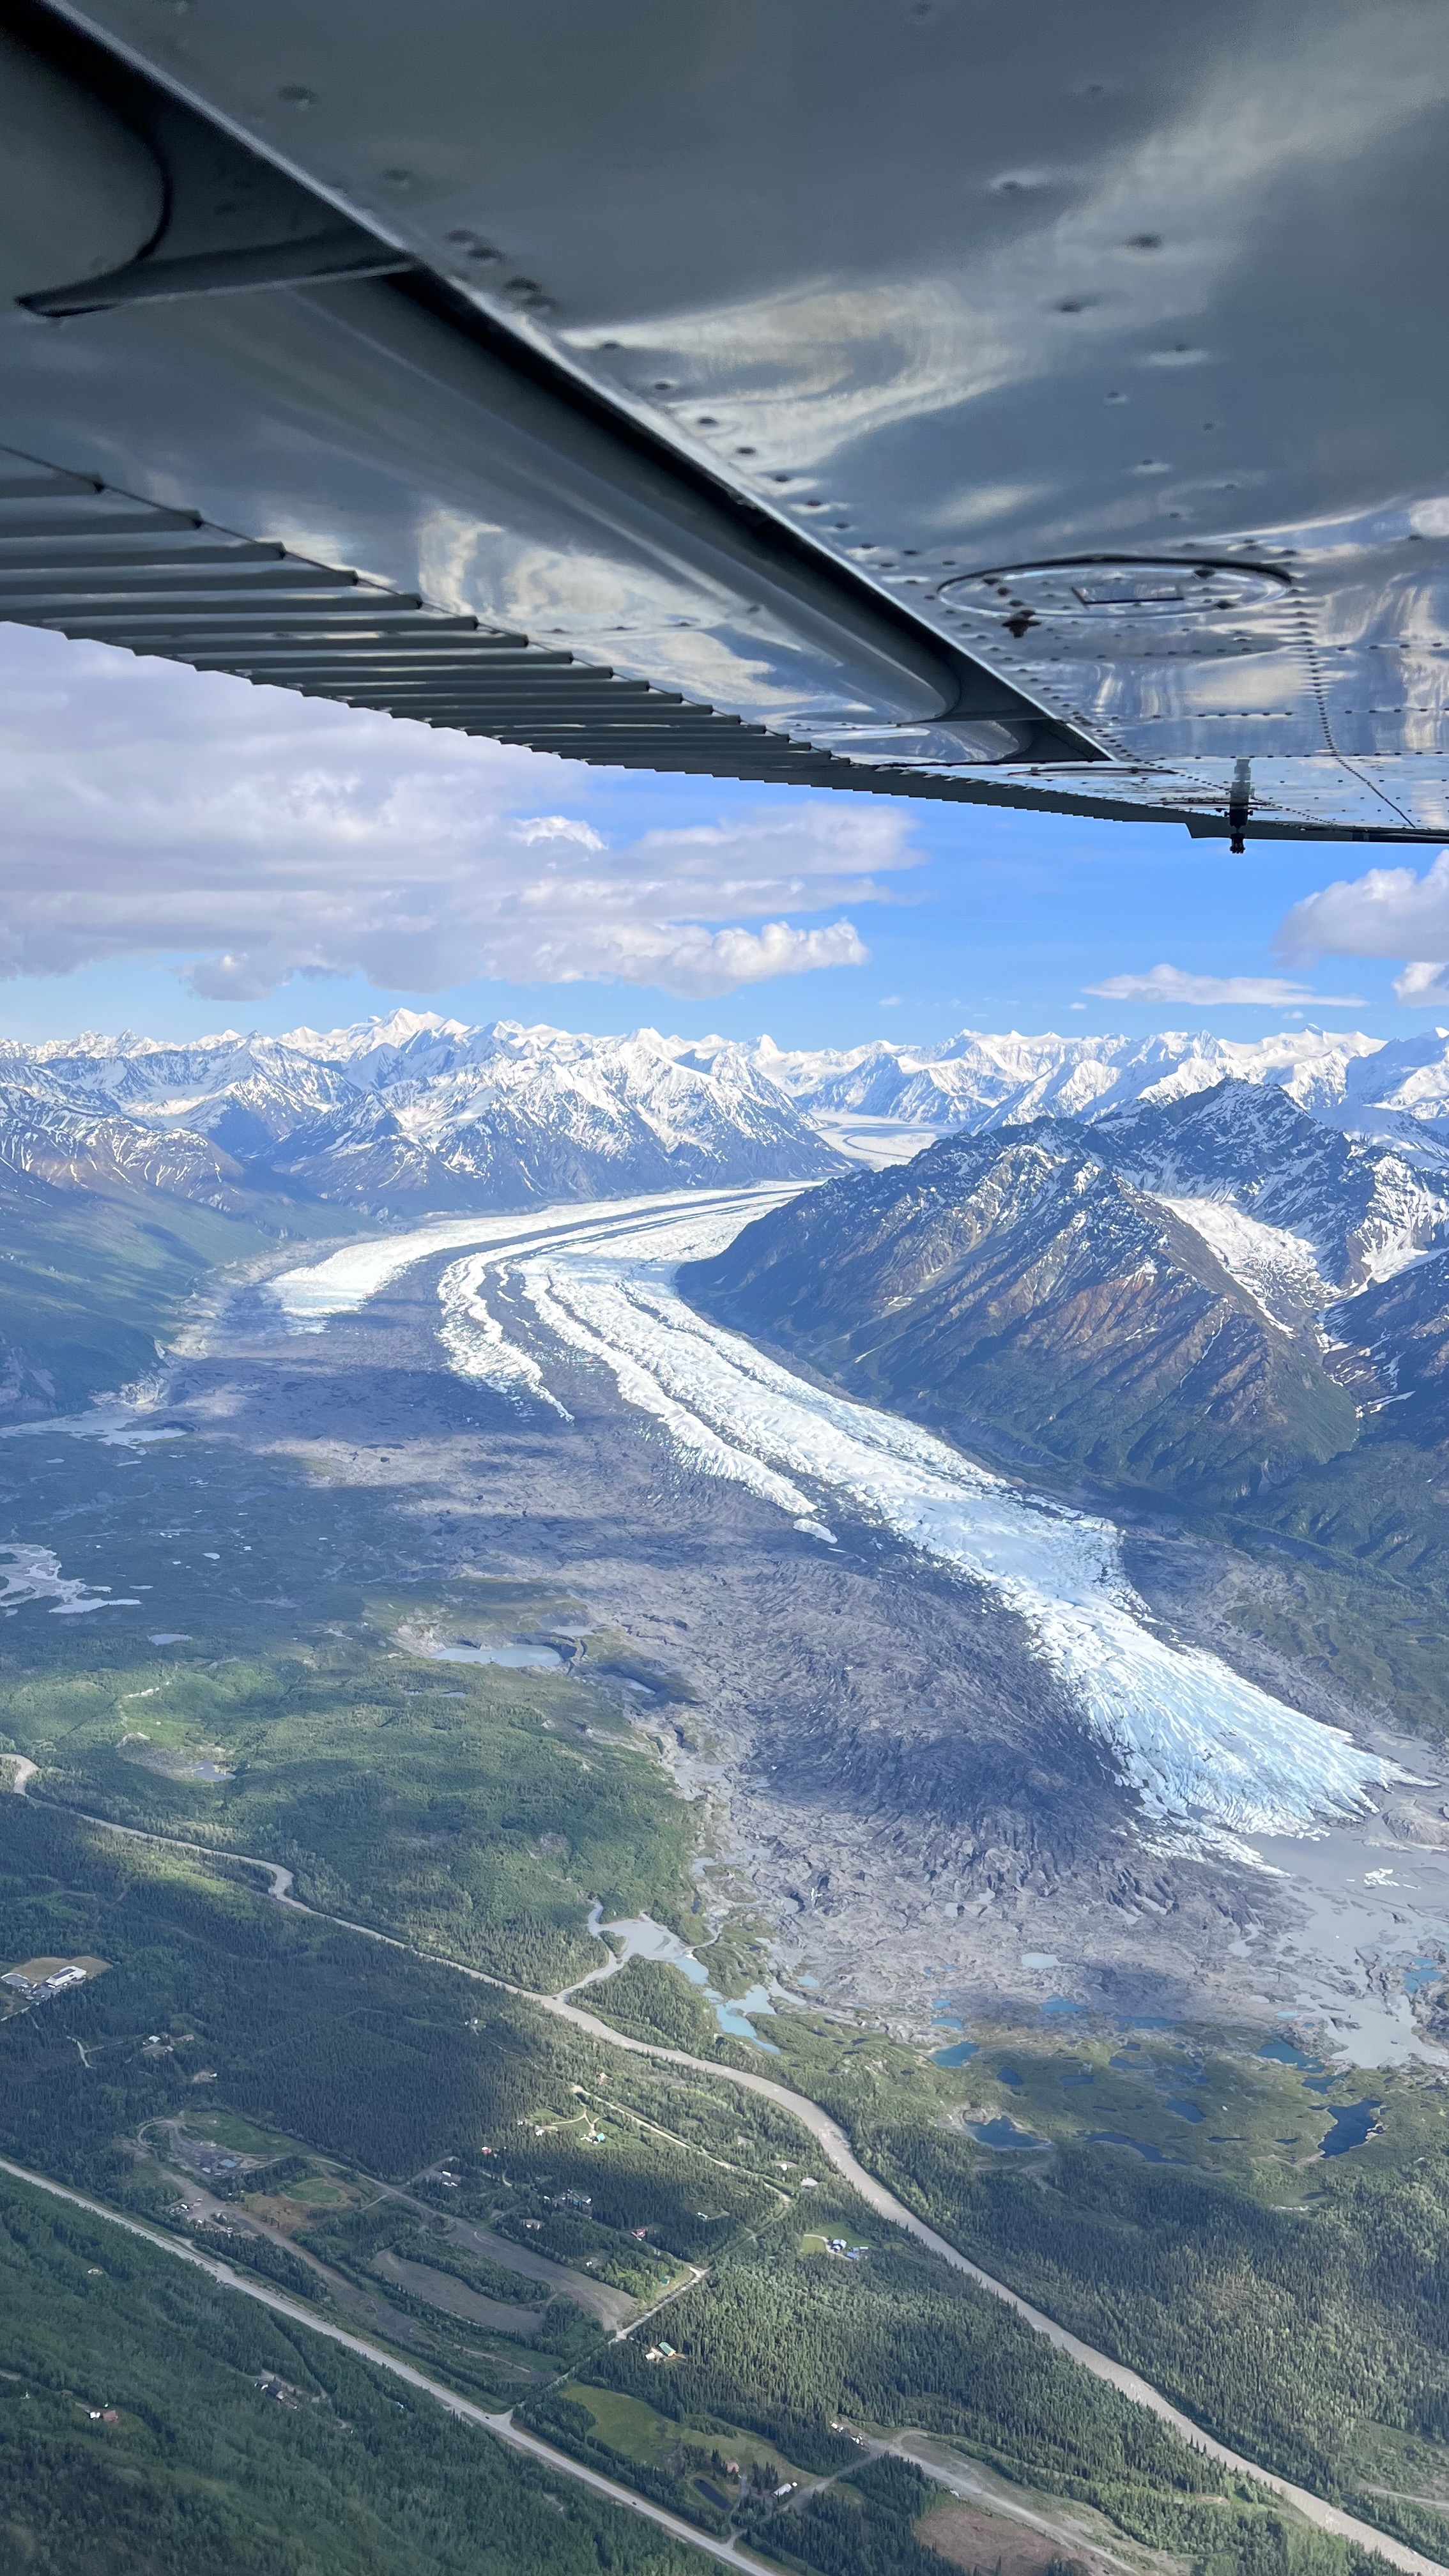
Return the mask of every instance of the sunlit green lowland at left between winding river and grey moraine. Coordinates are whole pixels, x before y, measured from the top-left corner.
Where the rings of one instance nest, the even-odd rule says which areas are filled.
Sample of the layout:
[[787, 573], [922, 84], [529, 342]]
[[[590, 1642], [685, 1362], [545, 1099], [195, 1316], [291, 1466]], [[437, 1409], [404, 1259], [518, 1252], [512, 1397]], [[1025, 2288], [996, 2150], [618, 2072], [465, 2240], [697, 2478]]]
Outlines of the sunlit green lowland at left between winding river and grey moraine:
[[[284, 1538], [276, 1497], [263, 1502], [240, 1522], [258, 1533], [253, 1556]], [[260, 1852], [294, 1870], [307, 1904], [557, 1991], [601, 1965], [590, 1899], [606, 1914], [678, 1914], [686, 1819], [596, 1682], [614, 1669], [606, 1643], [578, 1677], [438, 1667], [392, 1643], [397, 1628], [578, 1607], [518, 1584], [477, 1589], [462, 1602], [369, 1595], [353, 1633], [222, 1659], [98, 1654], [95, 1631], [77, 1638], [70, 1623], [44, 1636], [41, 1669], [10, 1674], [0, 1649], [0, 1752], [36, 1759], [52, 1801]]]

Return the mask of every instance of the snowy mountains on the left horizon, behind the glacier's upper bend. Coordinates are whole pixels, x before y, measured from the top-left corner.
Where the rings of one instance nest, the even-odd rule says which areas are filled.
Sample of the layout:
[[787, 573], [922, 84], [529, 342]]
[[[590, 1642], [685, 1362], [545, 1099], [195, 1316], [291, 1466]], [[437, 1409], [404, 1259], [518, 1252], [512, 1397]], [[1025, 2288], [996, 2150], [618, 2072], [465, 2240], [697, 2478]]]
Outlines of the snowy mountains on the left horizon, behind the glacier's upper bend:
[[745, 1046], [433, 1012], [0, 1048], [0, 1159], [44, 1151], [57, 1185], [85, 1188], [88, 1136], [180, 1198], [222, 1206], [245, 1182], [382, 1221], [843, 1170]]

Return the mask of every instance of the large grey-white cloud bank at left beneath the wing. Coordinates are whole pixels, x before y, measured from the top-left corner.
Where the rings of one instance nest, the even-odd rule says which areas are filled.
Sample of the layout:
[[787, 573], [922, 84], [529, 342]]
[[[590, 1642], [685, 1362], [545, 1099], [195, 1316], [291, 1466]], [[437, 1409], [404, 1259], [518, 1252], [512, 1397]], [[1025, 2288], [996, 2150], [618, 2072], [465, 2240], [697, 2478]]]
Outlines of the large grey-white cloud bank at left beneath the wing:
[[0, 976], [160, 953], [227, 1002], [358, 971], [724, 994], [864, 963], [848, 917], [792, 914], [923, 855], [900, 809], [830, 796], [608, 848], [547, 811], [598, 793], [559, 760], [26, 629], [0, 690]]

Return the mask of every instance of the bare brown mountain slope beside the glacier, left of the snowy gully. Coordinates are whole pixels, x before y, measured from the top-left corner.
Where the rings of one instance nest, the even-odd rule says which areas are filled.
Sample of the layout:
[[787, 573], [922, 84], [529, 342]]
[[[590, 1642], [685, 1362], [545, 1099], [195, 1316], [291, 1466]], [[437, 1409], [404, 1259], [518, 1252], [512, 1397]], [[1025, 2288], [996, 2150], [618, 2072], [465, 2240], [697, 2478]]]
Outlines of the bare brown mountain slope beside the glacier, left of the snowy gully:
[[1318, 1347], [1067, 1121], [835, 1180], [681, 1285], [861, 1394], [1098, 1481], [1238, 1499], [1359, 1427]]

